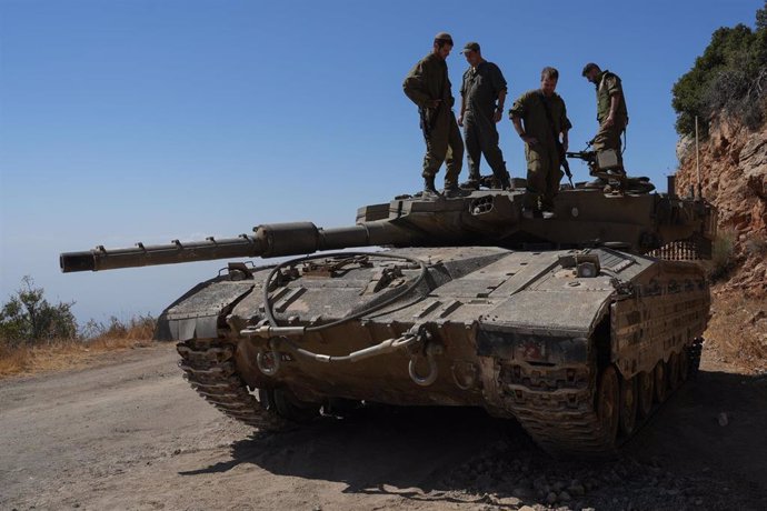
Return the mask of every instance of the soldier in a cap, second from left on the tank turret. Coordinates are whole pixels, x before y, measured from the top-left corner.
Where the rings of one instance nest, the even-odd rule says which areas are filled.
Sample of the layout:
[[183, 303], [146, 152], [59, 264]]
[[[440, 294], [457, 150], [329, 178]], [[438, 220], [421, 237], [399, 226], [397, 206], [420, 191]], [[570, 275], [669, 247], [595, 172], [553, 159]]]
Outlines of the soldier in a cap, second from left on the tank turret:
[[498, 130], [506, 101], [506, 79], [498, 66], [482, 58], [477, 42], [468, 42], [461, 51], [469, 69], [464, 73], [460, 88], [461, 103], [458, 126], [464, 128], [469, 181], [467, 188], [479, 189], [479, 159], [485, 159], [492, 169], [495, 186], [509, 188], [504, 153], [498, 147]]

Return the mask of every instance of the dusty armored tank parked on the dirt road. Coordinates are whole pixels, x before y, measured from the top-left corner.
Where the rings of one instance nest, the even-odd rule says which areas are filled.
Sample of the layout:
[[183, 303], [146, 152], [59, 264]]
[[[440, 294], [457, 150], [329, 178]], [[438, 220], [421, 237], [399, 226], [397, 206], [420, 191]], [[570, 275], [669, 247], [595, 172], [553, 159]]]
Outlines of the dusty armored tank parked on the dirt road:
[[[265, 224], [60, 264], [298, 255], [229, 262], [158, 321], [191, 387], [259, 430], [355, 403], [481, 407], [551, 453], [602, 454], [697, 368], [709, 317], [689, 260], [710, 253], [716, 212], [646, 190], [566, 188], [546, 219], [521, 214], [520, 189], [402, 196], [349, 227]], [[361, 247], [382, 249], [348, 251]]]

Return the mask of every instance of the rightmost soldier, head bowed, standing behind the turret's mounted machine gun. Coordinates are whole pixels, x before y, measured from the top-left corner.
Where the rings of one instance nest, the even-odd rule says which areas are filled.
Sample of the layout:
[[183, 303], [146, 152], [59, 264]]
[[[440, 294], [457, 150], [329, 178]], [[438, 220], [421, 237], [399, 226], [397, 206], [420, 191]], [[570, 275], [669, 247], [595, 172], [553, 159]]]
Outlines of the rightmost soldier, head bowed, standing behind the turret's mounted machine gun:
[[599, 69], [599, 66], [589, 62], [584, 67], [582, 76], [594, 83], [597, 89], [597, 121], [599, 130], [594, 137], [595, 151], [615, 149], [620, 169], [624, 160], [620, 154], [620, 134], [628, 124], [628, 110], [626, 98], [617, 74]]

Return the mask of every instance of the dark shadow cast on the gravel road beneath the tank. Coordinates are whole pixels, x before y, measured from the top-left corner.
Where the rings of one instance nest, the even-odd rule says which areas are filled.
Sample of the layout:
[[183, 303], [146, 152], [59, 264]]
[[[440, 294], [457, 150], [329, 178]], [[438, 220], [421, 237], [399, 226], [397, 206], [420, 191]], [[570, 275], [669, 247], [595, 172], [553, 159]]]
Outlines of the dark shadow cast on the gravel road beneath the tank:
[[230, 460], [185, 474], [252, 463], [275, 474], [342, 482], [345, 492], [412, 500], [763, 509], [766, 431], [767, 377], [700, 372], [609, 461], [554, 460], [515, 421], [482, 410], [373, 408], [238, 441]]

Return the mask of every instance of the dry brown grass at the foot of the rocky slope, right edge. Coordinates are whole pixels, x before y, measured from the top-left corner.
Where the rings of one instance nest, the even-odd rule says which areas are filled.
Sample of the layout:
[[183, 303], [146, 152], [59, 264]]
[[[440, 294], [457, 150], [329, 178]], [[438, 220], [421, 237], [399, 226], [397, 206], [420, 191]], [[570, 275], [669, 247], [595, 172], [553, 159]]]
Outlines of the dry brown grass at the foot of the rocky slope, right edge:
[[705, 333], [715, 359], [749, 371], [767, 371], [767, 298], [716, 292]]

